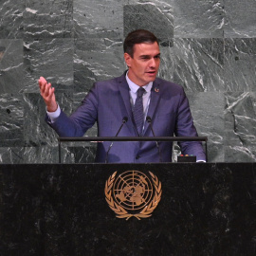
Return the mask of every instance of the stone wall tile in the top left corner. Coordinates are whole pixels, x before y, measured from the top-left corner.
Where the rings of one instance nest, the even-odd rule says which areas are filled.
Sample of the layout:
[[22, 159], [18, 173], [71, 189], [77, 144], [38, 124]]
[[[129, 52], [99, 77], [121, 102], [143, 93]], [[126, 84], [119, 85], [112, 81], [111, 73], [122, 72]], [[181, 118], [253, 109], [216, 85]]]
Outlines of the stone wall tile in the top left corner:
[[25, 1], [1, 1], [0, 38], [23, 38], [23, 13], [25, 9]]

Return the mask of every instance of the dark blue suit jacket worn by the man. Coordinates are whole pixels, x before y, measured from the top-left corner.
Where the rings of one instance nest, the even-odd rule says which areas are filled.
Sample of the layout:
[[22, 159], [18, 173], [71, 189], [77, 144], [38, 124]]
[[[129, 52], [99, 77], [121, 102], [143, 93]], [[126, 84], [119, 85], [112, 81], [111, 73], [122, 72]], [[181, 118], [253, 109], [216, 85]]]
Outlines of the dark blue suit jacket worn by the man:
[[[156, 137], [197, 136], [189, 101], [183, 88], [173, 82], [155, 79], [147, 116], [152, 119]], [[49, 119], [46, 121], [60, 137], [82, 137], [95, 122], [98, 124], [99, 137], [114, 137], [124, 117], [128, 117], [128, 121], [122, 127], [119, 137], [136, 137], [125, 73], [113, 80], [96, 82], [82, 101], [82, 105], [69, 118], [61, 112], [54, 123]], [[153, 136], [147, 122], [143, 136]], [[110, 142], [98, 143], [97, 162], [104, 162], [109, 145]], [[205, 159], [200, 142], [182, 142], [180, 146], [183, 154], [196, 155], [200, 160]], [[173, 143], [159, 142], [159, 148], [162, 161], [171, 162]], [[114, 142], [108, 162], [159, 162], [159, 155], [155, 141]]]

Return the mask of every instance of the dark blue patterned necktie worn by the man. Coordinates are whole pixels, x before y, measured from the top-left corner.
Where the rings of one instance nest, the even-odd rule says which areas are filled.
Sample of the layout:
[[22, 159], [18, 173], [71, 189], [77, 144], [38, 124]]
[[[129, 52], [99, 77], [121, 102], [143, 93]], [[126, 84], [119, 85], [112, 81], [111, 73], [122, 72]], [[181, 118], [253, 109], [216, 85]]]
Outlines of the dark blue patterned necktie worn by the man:
[[143, 101], [142, 101], [142, 96], [144, 92], [145, 92], [145, 89], [142, 87], [139, 87], [137, 89], [137, 99], [136, 99], [135, 107], [133, 111], [134, 120], [137, 126], [138, 136], [141, 136], [142, 134], [142, 128], [144, 123]]

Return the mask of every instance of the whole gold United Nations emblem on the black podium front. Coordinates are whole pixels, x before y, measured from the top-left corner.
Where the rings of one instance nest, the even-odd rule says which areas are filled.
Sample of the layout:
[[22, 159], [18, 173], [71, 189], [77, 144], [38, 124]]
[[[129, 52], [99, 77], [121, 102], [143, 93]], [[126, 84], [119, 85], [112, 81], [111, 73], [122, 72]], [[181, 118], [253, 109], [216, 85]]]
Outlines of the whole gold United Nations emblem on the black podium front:
[[149, 172], [146, 174], [138, 171], [117, 172], [109, 176], [105, 184], [106, 201], [118, 218], [131, 217], [148, 218], [152, 216], [157, 204], [161, 200], [161, 182]]

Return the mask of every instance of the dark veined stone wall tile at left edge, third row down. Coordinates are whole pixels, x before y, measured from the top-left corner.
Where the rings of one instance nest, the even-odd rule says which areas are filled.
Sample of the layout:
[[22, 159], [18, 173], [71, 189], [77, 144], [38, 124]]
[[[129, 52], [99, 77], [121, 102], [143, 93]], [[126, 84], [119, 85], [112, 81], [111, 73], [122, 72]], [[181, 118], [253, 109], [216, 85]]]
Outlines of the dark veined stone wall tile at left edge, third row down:
[[3, 94], [0, 100], [0, 147], [24, 146], [24, 101], [19, 94]]

